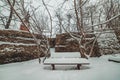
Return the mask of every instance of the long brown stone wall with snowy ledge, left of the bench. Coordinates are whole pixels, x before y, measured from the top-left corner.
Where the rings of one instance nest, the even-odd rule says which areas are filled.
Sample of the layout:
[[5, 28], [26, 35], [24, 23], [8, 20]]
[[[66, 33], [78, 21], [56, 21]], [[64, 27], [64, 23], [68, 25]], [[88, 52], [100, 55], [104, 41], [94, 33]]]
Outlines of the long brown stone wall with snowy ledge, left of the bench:
[[[38, 39], [42, 37], [34, 34]], [[21, 62], [41, 57], [31, 34], [14, 30], [0, 30], [0, 64]]]

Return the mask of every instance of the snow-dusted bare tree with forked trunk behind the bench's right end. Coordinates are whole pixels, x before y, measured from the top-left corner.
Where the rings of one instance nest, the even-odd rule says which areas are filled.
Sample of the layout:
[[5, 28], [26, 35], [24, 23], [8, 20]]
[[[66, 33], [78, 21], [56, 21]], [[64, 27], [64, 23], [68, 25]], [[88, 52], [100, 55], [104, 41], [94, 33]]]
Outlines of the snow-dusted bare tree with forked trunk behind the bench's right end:
[[[71, 33], [71, 32], [69, 32], [69, 31], [67, 31], [65, 28], [65, 31], [67, 32], [67, 33], [69, 33], [69, 35], [72, 37], [72, 38], [74, 38], [75, 40], [77, 40], [78, 41], [78, 43], [79, 43], [79, 49], [80, 49], [80, 53], [81, 54], [83, 54], [86, 58], [89, 58], [91, 55], [92, 55], [92, 52], [93, 52], [93, 48], [94, 48], [94, 45], [95, 45], [95, 43], [96, 43], [96, 41], [97, 41], [97, 38], [101, 35], [101, 33], [102, 33], [102, 30], [101, 30], [101, 32], [99, 33], [99, 35], [97, 35], [95, 38], [93, 38], [93, 39], [91, 39], [89, 42], [88, 41], [86, 41], [86, 39], [87, 39], [87, 34], [94, 34], [94, 33], [89, 33], [90, 32], [90, 30], [88, 30], [88, 31], [86, 31], [85, 30], [85, 26], [83, 25], [83, 6], [85, 5], [82, 5], [84, 3], [84, 1], [83, 0], [80, 0], [80, 1], [76, 1], [76, 0], [74, 0], [74, 8], [75, 8], [75, 14], [76, 14], [76, 21], [77, 21], [77, 29], [78, 29], [78, 31], [79, 31], [79, 35], [76, 35], [76, 34], [73, 34], [73, 33]], [[78, 8], [77, 8], [77, 4], [79, 4], [79, 9], [80, 10], [78, 10]], [[79, 12], [80, 11], [80, 12]], [[80, 13], [80, 15], [79, 15], [79, 13]], [[101, 15], [101, 14], [100, 14]], [[81, 17], [82, 16], [82, 17]], [[120, 14], [118, 14], [118, 15], [116, 15], [116, 16], [112, 16], [111, 18], [109, 18], [108, 20], [106, 20], [106, 21], [104, 21], [104, 22], [99, 22], [98, 24], [93, 24], [93, 22], [92, 22], [92, 24], [90, 25], [90, 26], [88, 26], [88, 27], [94, 27], [94, 26], [99, 26], [99, 25], [103, 25], [103, 24], [108, 24], [108, 23], [110, 23], [111, 21], [113, 21], [114, 19], [116, 19], [116, 18], [118, 18], [120, 16]], [[92, 15], [92, 17], [93, 17], [93, 15]], [[91, 17], [91, 18], [92, 18]], [[92, 30], [92, 31], [94, 31], [94, 30]], [[85, 41], [84, 43], [82, 43], [82, 41]], [[92, 47], [90, 48], [90, 52], [89, 52], [89, 54], [87, 54], [86, 53], [86, 49], [87, 49], [87, 45], [88, 44], [90, 44], [91, 42], [93, 42], [92, 43]]]

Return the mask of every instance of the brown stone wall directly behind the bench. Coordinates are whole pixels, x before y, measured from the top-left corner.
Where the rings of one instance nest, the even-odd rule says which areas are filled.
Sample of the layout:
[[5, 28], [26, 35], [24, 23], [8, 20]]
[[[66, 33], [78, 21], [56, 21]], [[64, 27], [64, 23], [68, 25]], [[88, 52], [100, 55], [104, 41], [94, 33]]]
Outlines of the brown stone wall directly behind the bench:
[[[74, 34], [78, 34], [78, 33], [74, 33]], [[92, 38], [92, 37], [95, 37], [95, 35], [88, 34], [88, 35], [86, 35], [86, 37]], [[86, 40], [86, 42], [87, 41], [89, 41], [89, 39]], [[82, 43], [85, 43], [85, 41], [83, 40]], [[90, 48], [92, 46], [92, 43], [93, 42], [91, 42], [88, 45], [87, 54], [89, 54], [89, 52], [90, 52]], [[56, 35], [55, 51], [56, 52], [79, 52], [79, 45], [78, 45], [78, 42], [76, 40], [74, 40], [73, 38], [71, 38], [71, 36], [68, 33], [63, 33], [63, 34]], [[91, 57], [96, 57], [96, 56], [97, 57], [100, 56], [97, 41], [95, 43]]]

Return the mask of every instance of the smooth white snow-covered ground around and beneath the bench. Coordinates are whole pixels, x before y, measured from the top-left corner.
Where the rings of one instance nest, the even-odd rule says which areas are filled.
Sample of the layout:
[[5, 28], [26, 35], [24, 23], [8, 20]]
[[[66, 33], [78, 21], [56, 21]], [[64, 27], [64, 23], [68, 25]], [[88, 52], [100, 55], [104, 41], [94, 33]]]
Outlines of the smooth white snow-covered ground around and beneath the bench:
[[73, 66], [51, 66], [38, 63], [38, 59], [0, 65], [0, 80], [120, 80], [120, 63], [109, 62], [111, 55], [90, 58], [90, 65], [77, 70]]

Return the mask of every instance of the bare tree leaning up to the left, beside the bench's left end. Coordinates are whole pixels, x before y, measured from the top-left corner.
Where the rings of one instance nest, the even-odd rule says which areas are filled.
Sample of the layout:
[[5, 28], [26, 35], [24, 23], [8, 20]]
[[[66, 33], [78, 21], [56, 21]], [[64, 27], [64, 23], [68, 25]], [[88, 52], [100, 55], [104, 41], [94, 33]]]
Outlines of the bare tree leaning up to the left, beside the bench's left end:
[[[16, 9], [13, 7], [13, 5], [12, 5], [11, 2], [10, 2], [10, 0], [7, 0], [7, 2], [8, 2], [8, 4], [10, 5], [10, 7], [13, 9], [15, 15], [20, 19], [20, 21], [22, 22], [22, 24], [23, 24], [26, 28], [28, 28], [28, 30], [29, 30], [28, 25], [27, 25], [27, 24], [24, 22], [24, 20], [21, 18], [21, 16], [19, 15], [20, 13], [18, 13], [18, 12], [16, 11]], [[33, 13], [32, 13], [32, 16], [29, 15], [29, 16], [30, 16], [30, 20], [31, 20], [31, 22], [32, 22], [32, 23], [30, 24], [30, 25], [31, 25], [31, 30], [32, 30], [32, 32], [29, 30], [29, 33], [32, 35], [32, 37], [34, 38], [34, 40], [35, 40], [35, 42], [36, 42], [37, 49], [38, 49], [38, 51], [39, 51], [38, 57], [39, 57], [39, 62], [40, 62], [40, 61], [41, 61], [41, 60], [40, 60], [41, 53], [44, 53], [45, 56], [48, 56], [48, 54], [49, 54], [49, 43], [48, 43], [48, 38], [47, 38], [46, 36], [44, 36], [44, 34], [43, 34], [43, 29], [42, 29], [42, 27], [44, 27], [44, 26], [41, 25], [41, 22], [40, 22], [38, 16], [36, 15], [34, 9], [32, 9], [32, 12], [33, 12]], [[28, 18], [27, 18], [27, 19], [28, 19]], [[41, 39], [37, 39], [37, 38], [36, 38], [36, 36], [34, 35], [34, 30], [35, 30], [37, 33], [40, 34]]]

